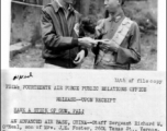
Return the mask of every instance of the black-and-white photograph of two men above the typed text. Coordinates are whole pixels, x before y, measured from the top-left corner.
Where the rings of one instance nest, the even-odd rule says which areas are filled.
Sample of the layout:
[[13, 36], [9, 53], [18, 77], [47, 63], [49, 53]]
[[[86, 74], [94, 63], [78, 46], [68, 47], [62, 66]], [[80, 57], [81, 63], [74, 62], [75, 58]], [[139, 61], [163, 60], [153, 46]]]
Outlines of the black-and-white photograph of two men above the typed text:
[[10, 68], [157, 70], [158, 0], [12, 0]]

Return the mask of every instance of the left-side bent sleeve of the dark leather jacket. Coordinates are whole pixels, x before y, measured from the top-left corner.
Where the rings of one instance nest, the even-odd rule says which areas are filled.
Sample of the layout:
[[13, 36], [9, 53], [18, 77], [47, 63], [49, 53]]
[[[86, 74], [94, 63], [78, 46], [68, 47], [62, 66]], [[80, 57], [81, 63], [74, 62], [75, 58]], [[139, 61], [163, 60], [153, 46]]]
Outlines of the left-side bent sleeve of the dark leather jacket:
[[78, 39], [56, 34], [49, 14], [43, 9], [41, 17], [42, 37], [46, 48], [51, 50], [68, 50], [78, 46]]

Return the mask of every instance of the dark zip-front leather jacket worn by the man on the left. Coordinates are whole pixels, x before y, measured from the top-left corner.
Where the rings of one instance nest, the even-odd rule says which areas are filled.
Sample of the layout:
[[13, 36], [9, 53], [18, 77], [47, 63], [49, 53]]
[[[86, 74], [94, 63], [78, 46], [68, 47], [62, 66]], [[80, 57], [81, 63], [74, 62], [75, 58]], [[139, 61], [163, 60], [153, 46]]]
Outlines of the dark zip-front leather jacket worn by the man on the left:
[[44, 43], [43, 57], [46, 63], [65, 68], [74, 68], [78, 48], [77, 35], [74, 31], [80, 14], [70, 8], [66, 19], [64, 9], [53, 1], [42, 10], [42, 37]]

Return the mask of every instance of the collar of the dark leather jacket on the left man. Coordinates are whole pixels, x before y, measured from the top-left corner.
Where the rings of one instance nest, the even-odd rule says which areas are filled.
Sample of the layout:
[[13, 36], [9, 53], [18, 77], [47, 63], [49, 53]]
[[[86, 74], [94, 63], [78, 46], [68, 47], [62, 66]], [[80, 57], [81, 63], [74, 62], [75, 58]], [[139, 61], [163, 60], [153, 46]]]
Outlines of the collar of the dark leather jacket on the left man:
[[[55, 12], [58, 12], [58, 10], [59, 10], [60, 8], [64, 9], [64, 7], [60, 4], [60, 2], [59, 2], [58, 0], [54, 0], [54, 1], [52, 2], [52, 5], [53, 5]], [[74, 12], [74, 11], [75, 11], [71, 5], [69, 5], [68, 10], [69, 10], [70, 12]]]

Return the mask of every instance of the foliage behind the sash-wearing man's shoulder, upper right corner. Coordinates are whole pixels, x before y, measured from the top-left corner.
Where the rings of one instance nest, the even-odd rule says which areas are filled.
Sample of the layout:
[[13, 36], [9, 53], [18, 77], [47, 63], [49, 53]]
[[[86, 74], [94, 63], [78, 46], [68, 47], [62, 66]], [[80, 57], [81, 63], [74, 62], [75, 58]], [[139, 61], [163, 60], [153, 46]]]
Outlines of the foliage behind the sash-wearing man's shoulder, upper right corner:
[[157, 16], [153, 13], [153, 11], [156, 12], [157, 9], [156, 7], [152, 8], [148, 1], [125, 2], [123, 9], [126, 16], [137, 22], [143, 33], [157, 29]]

